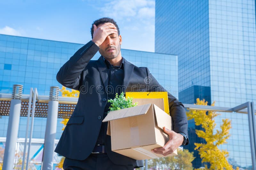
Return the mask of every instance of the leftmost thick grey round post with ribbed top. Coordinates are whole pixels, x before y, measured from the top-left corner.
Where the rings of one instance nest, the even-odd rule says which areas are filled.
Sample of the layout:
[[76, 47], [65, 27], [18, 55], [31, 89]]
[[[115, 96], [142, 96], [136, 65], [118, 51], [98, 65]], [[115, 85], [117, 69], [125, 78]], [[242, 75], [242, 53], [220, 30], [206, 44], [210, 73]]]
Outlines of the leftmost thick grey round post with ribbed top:
[[20, 109], [21, 109], [21, 96], [23, 85], [14, 84], [12, 91], [12, 100], [10, 105], [8, 129], [6, 136], [6, 143], [4, 149], [4, 162], [3, 170], [13, 169], [16, 140], [18, 137], [19, 123], [20, 123]]

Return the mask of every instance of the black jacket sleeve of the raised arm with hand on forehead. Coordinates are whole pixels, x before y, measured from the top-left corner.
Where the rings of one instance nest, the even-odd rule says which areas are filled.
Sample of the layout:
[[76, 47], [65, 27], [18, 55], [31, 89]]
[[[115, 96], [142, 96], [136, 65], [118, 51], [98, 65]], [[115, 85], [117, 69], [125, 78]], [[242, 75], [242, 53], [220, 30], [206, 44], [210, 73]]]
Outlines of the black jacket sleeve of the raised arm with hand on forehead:
[[60, 68], [57, 81], [64, 87], [79, 90], [81, 73], [98, 50], [93, 41], [85, 44]]

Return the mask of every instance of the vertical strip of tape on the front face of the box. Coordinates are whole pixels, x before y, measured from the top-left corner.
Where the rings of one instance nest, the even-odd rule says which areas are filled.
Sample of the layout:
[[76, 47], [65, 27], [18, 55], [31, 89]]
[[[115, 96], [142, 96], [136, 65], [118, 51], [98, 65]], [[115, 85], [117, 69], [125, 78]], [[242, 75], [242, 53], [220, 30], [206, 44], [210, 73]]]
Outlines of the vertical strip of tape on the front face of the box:
[[131, 117], [129, 119], [130, 123], [130, 132], [131, 132], [131, 145], [139, 146], [140, 145], [140, 132], [137, 123], [137, 117]]

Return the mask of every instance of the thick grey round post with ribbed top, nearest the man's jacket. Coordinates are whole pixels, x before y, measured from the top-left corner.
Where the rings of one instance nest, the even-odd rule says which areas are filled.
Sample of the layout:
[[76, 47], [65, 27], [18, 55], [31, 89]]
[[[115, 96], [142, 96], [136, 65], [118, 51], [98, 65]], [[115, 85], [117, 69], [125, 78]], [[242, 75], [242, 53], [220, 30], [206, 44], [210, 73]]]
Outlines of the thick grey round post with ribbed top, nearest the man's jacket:
[[57, 86], [52, 86], [50, 89], [50, 101], [48, 103], [47, 121], [44, 136], [44, 154], [42, 169], [53, 168], [53, 151], [55, 145], [55, 135], [57, 129], [58, 107], [59, 107], [59, 90]]

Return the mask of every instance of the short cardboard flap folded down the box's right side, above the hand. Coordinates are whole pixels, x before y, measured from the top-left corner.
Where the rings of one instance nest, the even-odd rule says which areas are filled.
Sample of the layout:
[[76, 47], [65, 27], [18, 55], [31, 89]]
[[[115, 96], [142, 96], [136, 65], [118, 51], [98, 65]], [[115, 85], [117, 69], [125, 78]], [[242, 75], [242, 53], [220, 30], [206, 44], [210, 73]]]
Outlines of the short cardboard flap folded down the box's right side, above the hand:
[[157, 126], [161, 129], [163, 129], [164, 126], [165, 126], [167, 129], [172, 130], [172, 118], [171, 118], [171, 116], [167, 115], [163, 110], [161, 110], [155, 104], [154, 104], [154, 110], [155, 110], [155, 115], [156, 115], [156, 124], [157, 124]]

